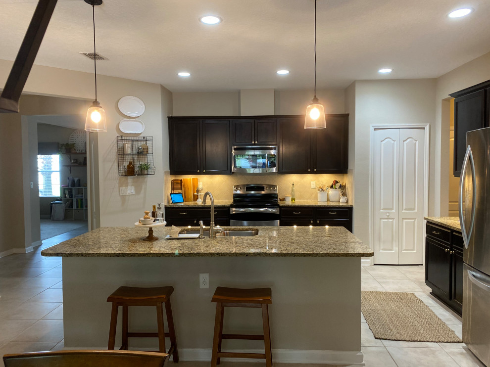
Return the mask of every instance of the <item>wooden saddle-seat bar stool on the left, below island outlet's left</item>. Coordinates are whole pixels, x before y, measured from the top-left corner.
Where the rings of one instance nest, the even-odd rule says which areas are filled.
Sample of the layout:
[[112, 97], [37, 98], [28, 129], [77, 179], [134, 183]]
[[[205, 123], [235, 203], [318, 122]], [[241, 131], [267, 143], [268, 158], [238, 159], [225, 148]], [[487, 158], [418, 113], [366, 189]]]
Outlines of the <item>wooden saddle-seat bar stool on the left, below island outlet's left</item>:
[[[160, 353], [165, 352], [165, 337], [170, 338], [170, 348], [168, 354], [171, 354], [175, 362], [179, 362], [177, 352], [177, 342], [175, 339], [174, 320], [172, 317], [172, 307], [170, 306], [170, 295], [174, 287], [157, 287], [157, 288], [137, 288], [137, 287], [119, 287], [108, 298], [107, 302], [112, 302], [112, 313], [110, 316], [109, 328], [109, 345], [107, 349], [114, 349], [116, 340], [117, 312], [119, 306], [123, 308], [123, 330], [122, 346], [120, 350], [128, 350], [128, 338], [158, 338]], [[165, 304], [165, 313], [167, 314], [168, 332], [165, 332], [163, 326], [163, 304]], [[158, 332], [129, 332], [129, 306], [155, 306], [156, 320], [158, 323]]]

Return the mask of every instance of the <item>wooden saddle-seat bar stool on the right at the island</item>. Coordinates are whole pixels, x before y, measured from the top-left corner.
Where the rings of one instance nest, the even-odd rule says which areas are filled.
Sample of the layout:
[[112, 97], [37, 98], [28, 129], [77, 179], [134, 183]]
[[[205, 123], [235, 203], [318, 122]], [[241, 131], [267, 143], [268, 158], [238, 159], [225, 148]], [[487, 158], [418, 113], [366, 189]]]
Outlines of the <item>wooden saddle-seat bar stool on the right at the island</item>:
[[[266, 366], [272, 367], [271, 332], [269, 328], [269, 310], [267, 306], [272, 304], [271, 289], [217, 287], [211, 302], [216, 302], [211, 367], [219, 365], [221, 357], [265, 359]], [[223, 316], [225, 307], [262, 308], [264, 335], [223, 334]], [[221, 352], [222, 339], [263, 340], [265, 344], [265, 353], [223, 353]]]

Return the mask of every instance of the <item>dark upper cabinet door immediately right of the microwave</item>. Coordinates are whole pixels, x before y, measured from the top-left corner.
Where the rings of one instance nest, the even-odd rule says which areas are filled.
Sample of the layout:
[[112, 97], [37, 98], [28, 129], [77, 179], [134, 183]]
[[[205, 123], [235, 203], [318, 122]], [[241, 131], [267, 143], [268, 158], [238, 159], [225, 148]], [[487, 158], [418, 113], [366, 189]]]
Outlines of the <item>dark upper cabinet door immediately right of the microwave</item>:
[[309, 132], [301, 118], [279, 119], [279, 173], [308, 173]]

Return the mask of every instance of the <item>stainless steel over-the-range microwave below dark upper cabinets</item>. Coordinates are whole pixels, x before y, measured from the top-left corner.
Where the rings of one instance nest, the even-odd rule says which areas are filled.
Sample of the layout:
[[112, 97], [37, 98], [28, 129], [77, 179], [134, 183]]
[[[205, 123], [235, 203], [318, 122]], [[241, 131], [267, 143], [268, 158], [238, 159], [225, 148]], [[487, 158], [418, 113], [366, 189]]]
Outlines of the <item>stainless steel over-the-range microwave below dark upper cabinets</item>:
[[277, 172], [277, 146], [234, 146], [233, 172]]

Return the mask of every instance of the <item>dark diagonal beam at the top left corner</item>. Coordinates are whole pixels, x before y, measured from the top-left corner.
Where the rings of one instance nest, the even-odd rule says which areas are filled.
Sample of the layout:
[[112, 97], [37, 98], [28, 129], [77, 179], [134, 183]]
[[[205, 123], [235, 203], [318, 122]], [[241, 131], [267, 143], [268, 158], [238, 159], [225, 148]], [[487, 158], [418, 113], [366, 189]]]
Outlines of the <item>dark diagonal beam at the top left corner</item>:
[[19, 112], [19, 98], [38, 54], [57, 0], [39, 0], [0, 95], [0, 112]]

